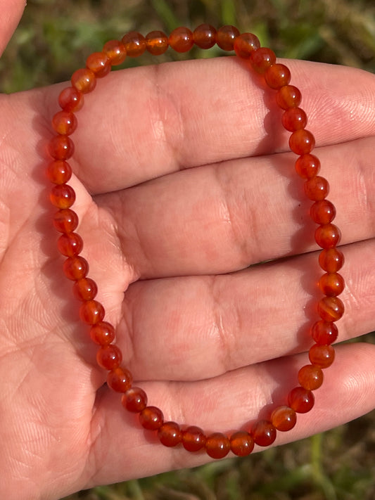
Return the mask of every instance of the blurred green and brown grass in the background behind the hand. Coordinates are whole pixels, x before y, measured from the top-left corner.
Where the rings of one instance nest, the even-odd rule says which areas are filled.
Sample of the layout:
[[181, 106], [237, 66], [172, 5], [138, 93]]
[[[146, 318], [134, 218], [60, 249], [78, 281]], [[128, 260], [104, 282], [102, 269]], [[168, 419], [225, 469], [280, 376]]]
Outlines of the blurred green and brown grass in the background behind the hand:
[[[375, 72], [374, 0], [28, 0], [0, 59], [0, 90], [13, 92], [70, 78], [89, 53], [129, 30], [233, 24], [258, 35], [278, 56]], [[157, 60], [216, 56], [220, 50]], [[127, 65], [156, 62], [153, 56]], [[374, 342], [374, 334], [362, 340]], [[375, 412], [324, 435], [119, 485], [69, 500], [374, 500]], [[68, 499], [67, 499], [68, 500]]]

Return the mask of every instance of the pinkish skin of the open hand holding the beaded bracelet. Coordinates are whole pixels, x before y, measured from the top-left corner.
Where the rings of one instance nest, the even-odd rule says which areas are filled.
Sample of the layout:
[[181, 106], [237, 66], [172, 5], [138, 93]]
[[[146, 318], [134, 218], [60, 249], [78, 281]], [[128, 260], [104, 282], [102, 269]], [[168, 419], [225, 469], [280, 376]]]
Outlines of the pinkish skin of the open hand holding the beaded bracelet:
[[[0, 1], [2, 48], [23, 7]], [[343, 233], [340, 340], [356, 338], [375, 330], [375, 77], [288, 66]], [[210, 460], [161, 447], [103, 385], [61, 271], [44, 177], [65, 86], [0, 96], [0, 496], [8, 500], [58, 499]], [[236, 58], [117, 72], [77, 113], [70, 184], [82, 255], [124, 365], [165, 418], [208, 432], [269, 415], [308, 363], [322, 271], [280, 115]], [[374, 355], [369, 343], [339, 345], [314, 409], [275, 444], [374, 409]]]

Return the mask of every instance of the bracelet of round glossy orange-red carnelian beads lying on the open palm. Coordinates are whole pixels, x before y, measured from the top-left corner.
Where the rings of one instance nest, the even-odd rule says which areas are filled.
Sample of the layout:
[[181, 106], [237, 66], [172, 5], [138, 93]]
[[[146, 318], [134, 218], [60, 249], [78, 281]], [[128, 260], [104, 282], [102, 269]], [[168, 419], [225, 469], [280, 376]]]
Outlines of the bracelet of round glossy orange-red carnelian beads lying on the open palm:
[[[247, 428], [231, 433], [222, 432], [206, 435], [195, 425], [181, 426], [175, 422], [164, 421], [163, 413], [156, 406], [147, 405], [144, 390], [132, 386], [132, 374], [121, 367], [122, 353], [115, 345], [115, 328], [104, 320], [104, 307], [95, 300], [97, 286], [95, 281], [87, 277], [89, 264], [80, 256], [83, 248], [82, 238], [75, 232], [78, 217], [71, 206], [75, 202], [75, 191], [67, 184], [72, 169], [68, 162], [74, 153], [74, 145], [70, 139], [77, 128], [75, 113], [82, 108], [84, 94], [94, 90], [96, 79], [108, 75], [114, 65], [121, 64], [126, 56], [140, 56], [144, 51], [159, 55], [170, 46], [177, 52], [186, 52], [193, 45], [201, 49], [210, 49], [217, 44], [224, 51], [236, 52], [240, 58], [250, 61], [250, 65], [264, 76], [276, 96], [279, 107], [284, 110], [282, 124], [292, 132], [289, 139], [291, 150], [298, 155], [295, 162], [297, 174], [304, 179], [304, 190], [307, 198], [312, 200], [310, 216], [318, 224], [314, 238], [322, 248], [319, 253], [319, 266], [325, 271], [319, 279], [322, 298], [317, 302], [317, 319], [310, 328], [314, 345], [310, 348], [310, 364], [300, 368], [297, 387], [289, 392], [287, 404], [278, 406], [269, 415], [269, 419], [261, 420]], [[145, 429], [158, 435], [158, 439], [167, 447], [179, 444], [188, 451], [205, 449], [209, 456], [221, 459], [232, 451], [238, 456], [246, 456], [253, 450], [254, 444], [266, 447], [276, 439], [277, 430], [291, 430], [296, 422], [296, 414], [306, 413], [314, 405], [313, 390], [322, 385], [322, 369], [330, 366], [335, 352], [332, 342], [338, 337], [335, 321], [343, 316], [343, 302], [338, 298], [344, 288], [344, 281], [339, 269], [344, 258], [337, 245], [341, 238], [338, 227], [332, 224], [336, 215], [333, 204], [326, 200], [329, 184], [318, 175], [320, 163], [311, 154], [314, 148], [314, 136], [305, 129], [307, 117], [299, 108], [301, 94], [298, 88], [290, 85], [291, 73], [284, 64], [276, 62], [274, 52], [260, 47], [254, 34], [243, 33], [234, 26], [223, 26], [220, 30], [204, 24], [194, 32], [186, 27], [177, 27], [169, 37], [160, 31], [153, 31], [143, 37], [137, 32], [129, 32], [121, 41], [110, 40], [103, 46], [103, 51], [92, 53], [86, 61], [86, 67], [75, 71], [71, 86], [63, 89], [58, 97], [62, 110], [53, 116], [52, 126], [57, 133], [49, 141], [49, 154], [53, 158], [47, 167], [47, 177], [53, 183], [51, 203], [58, 211], [53, 217], [53, 225], [61, 233], [58, 238], [58, 250], [67, 257], [63, 264], [63, 272], [74, 281], [73, 293], [80, 300], [80, 319], [91, 326], [90, 337], [99, 347], [96, 360], [101, 368], [108, 370], [107, 384], [116, 392], [122, 393], [122, 405], [127, 411], [139, 414], [139, 422]]]

